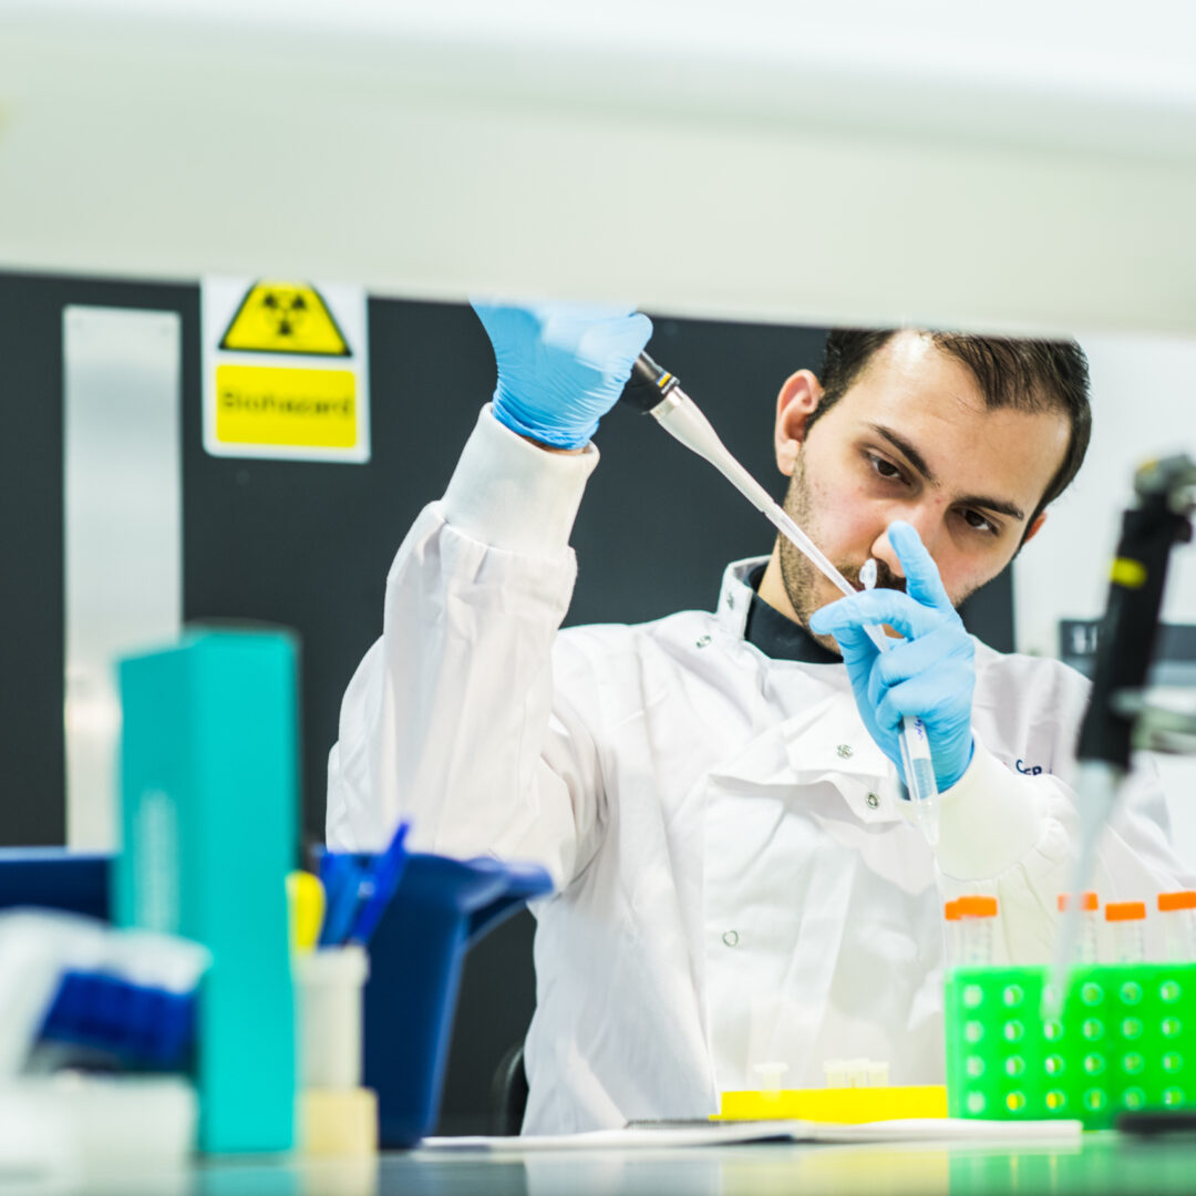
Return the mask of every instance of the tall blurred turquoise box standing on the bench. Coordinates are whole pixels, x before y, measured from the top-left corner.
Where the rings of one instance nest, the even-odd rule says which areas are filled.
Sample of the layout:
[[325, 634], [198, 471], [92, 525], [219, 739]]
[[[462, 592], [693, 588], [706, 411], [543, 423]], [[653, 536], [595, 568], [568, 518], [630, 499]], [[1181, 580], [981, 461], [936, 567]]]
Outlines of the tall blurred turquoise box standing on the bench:
[[295, 642], [277, 630], [195, 633], [121, 661], [120, 683], [115, 919], [212, 951], [199, 1005], [200, 1148], [289, 1149]]

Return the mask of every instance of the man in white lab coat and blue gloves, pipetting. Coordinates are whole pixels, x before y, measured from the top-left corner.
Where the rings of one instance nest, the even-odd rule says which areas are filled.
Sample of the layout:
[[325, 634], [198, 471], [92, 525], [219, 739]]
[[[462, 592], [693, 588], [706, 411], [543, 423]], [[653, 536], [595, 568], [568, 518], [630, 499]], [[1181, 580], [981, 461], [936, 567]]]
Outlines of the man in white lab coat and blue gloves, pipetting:
[[[1032, 539], [1087, 443], [1067, 342], [835, 334], [776, 409], [787, 542], [728, 567], [713, 614], [560, 630], [591, 441], [651, 335], [626, 311], [478, 306], [498, 362], [445, 496], [388, 578], [346, 694], [328, 838], [543, 862], [525, 1129], [704, 1116], [720, 1091], [820, 1085], [834, 1057], [941, 1082], [942, 901], [999, 898], [999, 960], [1042, 962], [1076, 829], [1086, 684], [954, 611]], [[902, 588], [904, 584], [904, 591]], [[864, 634], [904, 637], [883, 657]], [[844, 667], [846, 663], [846, 667]], [[932, 849], [899, 773], [921, 718]], [[1151, 777], [1100, 849], [1102, 898], [1180, 886]]]

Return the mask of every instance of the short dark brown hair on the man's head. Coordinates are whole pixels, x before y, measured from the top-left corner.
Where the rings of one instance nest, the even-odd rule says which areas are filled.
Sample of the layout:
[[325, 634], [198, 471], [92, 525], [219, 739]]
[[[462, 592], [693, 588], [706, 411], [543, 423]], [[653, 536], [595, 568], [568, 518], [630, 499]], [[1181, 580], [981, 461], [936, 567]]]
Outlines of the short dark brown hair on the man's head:
[[[819, 380], [823, 397], [806, 421], [806, 432], [856, 383], [875, 353], [901, 329], [836, 329], [826, 337]], [[972, 373], [988, 407], [1024, 411], [1062, 411], [1072, 426], [1063, 462], [1035, 507], [1026, 529], [1048, 504], [1072, 484], [1088, 451], [1092, 409], [1088, 405], [1088, 359], [1075, 341], [1012, 340], [966, 332], [922, 335]]]

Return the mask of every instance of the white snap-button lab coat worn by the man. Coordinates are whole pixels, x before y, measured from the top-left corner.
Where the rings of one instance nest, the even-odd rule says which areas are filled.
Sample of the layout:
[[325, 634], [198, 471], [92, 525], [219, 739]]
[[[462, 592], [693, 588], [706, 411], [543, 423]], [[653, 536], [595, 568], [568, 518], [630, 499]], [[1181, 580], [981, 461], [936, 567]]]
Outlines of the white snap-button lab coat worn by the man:
[[[549, 868], [527, 1131], [703, 1116], [765, 1062], [786, 1086], [858, 1056], [941, 1082], [942, 899], [995, 895], [997, 959], [1048, 958], [1086, 683], [977, 643], [976, 752], [932, 854], [843, 666], [745, 642], [751, 562], [714, 614], [559, 631], [596, 462], [483, 410], [346, 694], [330, 844], [377, 848], [408, 816], [416, 848]], [[1102, 847], [1103, 897], [1179, 886], [1165, 826], [1158, 787], [1137, 786]]]

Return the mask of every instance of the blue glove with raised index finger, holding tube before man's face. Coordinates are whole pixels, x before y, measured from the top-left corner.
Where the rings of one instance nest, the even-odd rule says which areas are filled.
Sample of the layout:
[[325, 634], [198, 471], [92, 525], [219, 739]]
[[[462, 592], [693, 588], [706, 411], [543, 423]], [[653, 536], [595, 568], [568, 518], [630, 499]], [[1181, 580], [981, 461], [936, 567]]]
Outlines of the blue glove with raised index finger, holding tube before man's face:
[[[864, 724], [898, 771], [902, 718], [922, 720], [934, 779], [947, 789], [972, 757], [975, 649], [917, 532], [893, 523], [889, 542], [905, 572], [905, 593], [871, 590], [841, 598], [813, 612], [810, 630], [838, 641]], [[864, 630], [869, 623], [887, 623], [905, 639], [890, 640], [892, 646], [881, 652]]]

